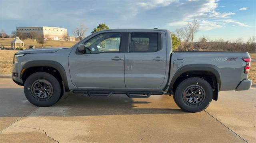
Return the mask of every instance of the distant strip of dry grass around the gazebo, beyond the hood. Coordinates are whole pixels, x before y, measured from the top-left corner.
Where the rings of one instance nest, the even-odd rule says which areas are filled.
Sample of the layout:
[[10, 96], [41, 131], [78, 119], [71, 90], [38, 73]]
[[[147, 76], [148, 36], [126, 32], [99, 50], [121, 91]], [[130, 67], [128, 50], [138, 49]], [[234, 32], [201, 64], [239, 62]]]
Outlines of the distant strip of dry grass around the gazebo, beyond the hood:
[[[12, 38], [0, 38], [0, 46], [4, 45], [4, 47], [11, 47]], [[35, 47], [42, 47], [42, 44], [36, 43], [36, 40], [26, 39], [23, 41], [26, 48], [30, 45], [35, 45]], [[75, 41], [58, 41], [58, 40], [46, 40], [44, 47], [71, 47], [73, 46]]]

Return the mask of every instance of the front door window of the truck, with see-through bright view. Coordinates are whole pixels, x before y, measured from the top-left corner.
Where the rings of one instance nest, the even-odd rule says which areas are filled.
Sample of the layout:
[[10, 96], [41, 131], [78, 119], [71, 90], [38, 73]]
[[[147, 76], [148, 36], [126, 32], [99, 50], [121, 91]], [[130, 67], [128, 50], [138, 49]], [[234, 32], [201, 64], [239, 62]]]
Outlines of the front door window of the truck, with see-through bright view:
[[120, 33], [103, 33], [97, 35], [84, 43], [86, 53], [118, 52], [120, 40]]

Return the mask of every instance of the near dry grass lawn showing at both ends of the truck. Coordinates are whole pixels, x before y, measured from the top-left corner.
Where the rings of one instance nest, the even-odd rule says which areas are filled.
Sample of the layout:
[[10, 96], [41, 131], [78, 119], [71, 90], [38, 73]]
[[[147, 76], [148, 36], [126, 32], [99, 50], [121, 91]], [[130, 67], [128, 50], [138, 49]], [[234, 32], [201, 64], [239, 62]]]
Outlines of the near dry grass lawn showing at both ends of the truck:
[[[0, 50], [0, 74], [11, 74], [13, 55], [16, 50]], [[249, 79], [256, 82], [256, 62], [251, 63]]]

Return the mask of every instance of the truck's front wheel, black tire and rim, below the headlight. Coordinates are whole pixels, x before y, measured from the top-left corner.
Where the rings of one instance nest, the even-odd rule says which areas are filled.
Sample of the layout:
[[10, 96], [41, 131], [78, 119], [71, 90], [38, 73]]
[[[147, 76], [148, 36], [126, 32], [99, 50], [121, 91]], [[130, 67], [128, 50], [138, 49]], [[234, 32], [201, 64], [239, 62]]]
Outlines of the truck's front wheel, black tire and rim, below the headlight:
[[58, 102], [61, 96], [61, 87], [52, 74], [35, 72], [26, 79], [24, 93], [30, 103], [48, 107]]

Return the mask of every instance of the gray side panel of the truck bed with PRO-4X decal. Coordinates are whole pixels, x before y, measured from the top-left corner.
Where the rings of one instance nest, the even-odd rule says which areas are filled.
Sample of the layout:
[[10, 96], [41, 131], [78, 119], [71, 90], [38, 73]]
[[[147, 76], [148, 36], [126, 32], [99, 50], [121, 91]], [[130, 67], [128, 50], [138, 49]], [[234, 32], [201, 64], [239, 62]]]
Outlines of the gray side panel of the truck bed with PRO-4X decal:
[[[248, 78], [248, 74], [244, 73], [246, 62], [242, 58], [250, 57], [247, 52], [206, 52], [206, 51], [188, 51], [173, 52], [170, 78], [174, 76], [178, 70], [184, 66], [190, 65], [192, 68], [198, 67], [200, 71], [203, 68], [212, 67], [220, 74], [220, 89], [235, 90], [238, 84]], [[183, 64], [181, 67], [175, 68], [174, 61], [181, 59]]]

